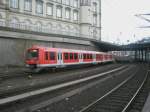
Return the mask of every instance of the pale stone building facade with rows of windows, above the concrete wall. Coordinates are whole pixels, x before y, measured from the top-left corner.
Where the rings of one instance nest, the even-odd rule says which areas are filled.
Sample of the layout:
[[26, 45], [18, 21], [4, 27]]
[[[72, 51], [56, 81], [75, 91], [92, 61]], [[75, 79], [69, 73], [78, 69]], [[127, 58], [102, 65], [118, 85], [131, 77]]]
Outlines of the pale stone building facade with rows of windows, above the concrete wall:
[[101, 39], [100, 0], [1, 0], [0, 26]]

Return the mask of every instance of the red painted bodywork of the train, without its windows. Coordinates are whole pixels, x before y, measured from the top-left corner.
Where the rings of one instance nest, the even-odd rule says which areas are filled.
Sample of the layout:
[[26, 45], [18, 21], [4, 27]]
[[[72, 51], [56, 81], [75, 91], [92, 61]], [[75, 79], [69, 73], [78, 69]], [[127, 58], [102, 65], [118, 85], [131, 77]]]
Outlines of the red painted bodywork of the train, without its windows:
[[[36, 65], [36, 64], [49, 64], [49, 65], [54, 65], [58, 64], [59, 60], [58, 58], [58, 53], [61, 53], [62, 55], [62, 62], [64, 64], [80, 64], [79, 61], [79, 54], [86, 54], [86, 58], [82, 59], [82, 62], [94, 62], [94, 55], [96, 55], [95, 61], [101, 62], [101, 61], [106, 61], [106, 60], [112, 60], [112, 55], [103, 53], [103, 52], [94, 52], [94, 51], [82, 51], [82, 50], [72, 50], [72, 49], [61, 49], [61, 48], [48, 48], [48, 47], [41, 47], [41, 46], [33, 46], [32, 48], [29, 48], [28, 50], [38, 50], [38, 58], [32, 58], [30, 60], [26, 59], [26, 64], [28, 65]], [[27, 51], [28, 51], [27, 50]], [[45, 53], [48, 52], [48, 60], [46, 60]], [[55, 52], [55, 59], [51, 60], [49, 56], [49, 52]], [[68, 53], [68, 59], [65, 59], [64, 54]], [[70, 53], [73, 54], [73, 59], [70, 59]], [[75, 59], [74, 54], [77, 54], [77, 59]], [[91, 56], [90, 56], [91, 55]], [[81, 61], [80, 61], [81, 62]]]

